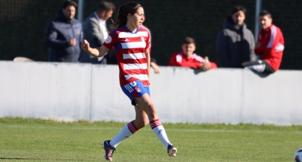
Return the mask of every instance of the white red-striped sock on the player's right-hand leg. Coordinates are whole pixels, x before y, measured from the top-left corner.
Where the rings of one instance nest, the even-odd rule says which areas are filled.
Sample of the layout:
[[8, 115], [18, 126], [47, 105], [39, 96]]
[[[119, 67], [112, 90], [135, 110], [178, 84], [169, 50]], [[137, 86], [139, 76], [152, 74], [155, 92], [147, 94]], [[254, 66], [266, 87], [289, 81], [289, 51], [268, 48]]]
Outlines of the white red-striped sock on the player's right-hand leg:
[[150, 121], [150, 127], [155, 133], [155, 135], [163, 142], [165, 148], [168, 148], [168, 143], [170, 143], [170, 141], [167, 135], [165, 134], [165, 129], [160, 119]]

